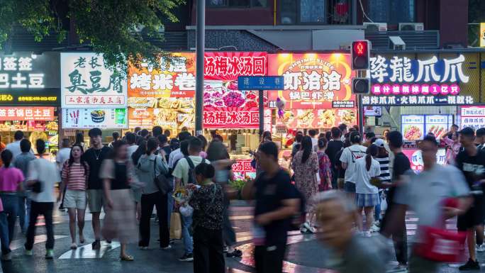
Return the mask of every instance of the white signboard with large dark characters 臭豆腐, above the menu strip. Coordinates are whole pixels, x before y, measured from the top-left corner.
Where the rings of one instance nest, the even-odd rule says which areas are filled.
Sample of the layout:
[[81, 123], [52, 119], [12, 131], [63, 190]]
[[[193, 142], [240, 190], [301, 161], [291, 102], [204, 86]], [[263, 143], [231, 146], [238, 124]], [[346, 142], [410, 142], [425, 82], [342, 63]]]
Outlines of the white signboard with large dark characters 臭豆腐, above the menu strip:
[[96, 53], [61, 53], [62, 108], [127, 106], [126, 79], [104, 67]]

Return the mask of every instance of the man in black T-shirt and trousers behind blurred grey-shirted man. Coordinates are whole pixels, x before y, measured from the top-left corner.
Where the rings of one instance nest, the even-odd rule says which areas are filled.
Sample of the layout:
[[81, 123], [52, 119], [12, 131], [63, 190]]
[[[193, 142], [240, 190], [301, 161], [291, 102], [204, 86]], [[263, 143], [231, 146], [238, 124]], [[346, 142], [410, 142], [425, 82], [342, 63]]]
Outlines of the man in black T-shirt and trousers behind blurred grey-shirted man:
[[[396, 253], [396, 260], [398, 261], [398, 265], [396, 269], [406, 269], [408, 264], [408, 239], [406, 235], [406, 219], [404, 215], [401, 217], [396, 217], [391, 219], [389, 216], [391, 215], [391, 211], [394, 209], [396, 201], [395, 195], [396, 191], [401, 189], [400, 184], [404, 179], [404, 174], [411, 170], [411, 163], [409, 162], [408, 157], [403, 153], [403, 135], [394, 130], [391, 131], [387, 135], [387, 139], [389, 140], [389, 148], [394, 153], [394, 167], [392, 171], [392, 182], [391, 184], [381, 183], [383, 188], [389, 189], [387, 191], [387, 210], [384, 214], [384, 218], [381, 221], [381, 234], [386, 237], [392, 237], [394, 241], [394, 252]], [[393, 223], [396, 228], [389, 229], [387, 225], [391, 224], [391, 221], [395, 221]], [[391, 230], [391, 232], [389, 232]]]

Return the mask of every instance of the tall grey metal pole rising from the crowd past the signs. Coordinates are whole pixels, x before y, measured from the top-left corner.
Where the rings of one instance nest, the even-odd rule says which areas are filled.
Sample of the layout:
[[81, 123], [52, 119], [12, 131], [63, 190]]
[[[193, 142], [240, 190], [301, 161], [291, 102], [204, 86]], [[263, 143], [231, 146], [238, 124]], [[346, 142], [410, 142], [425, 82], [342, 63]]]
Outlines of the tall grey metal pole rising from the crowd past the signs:
[[202, 135], [202, 111], [204, 109], [204, 46], [206, 34], [206, 0], [197, 0], [196, 28], [196, 120], [195, 133]]

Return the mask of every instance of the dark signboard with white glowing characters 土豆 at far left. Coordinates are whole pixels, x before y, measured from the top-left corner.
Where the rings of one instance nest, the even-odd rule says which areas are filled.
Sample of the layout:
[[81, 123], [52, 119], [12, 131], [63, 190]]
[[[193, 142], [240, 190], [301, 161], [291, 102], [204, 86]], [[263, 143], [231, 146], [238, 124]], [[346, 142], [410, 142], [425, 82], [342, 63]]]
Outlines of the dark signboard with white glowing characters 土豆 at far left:
[[0, 105], [59, 103], [59, 53], [0, 55]]

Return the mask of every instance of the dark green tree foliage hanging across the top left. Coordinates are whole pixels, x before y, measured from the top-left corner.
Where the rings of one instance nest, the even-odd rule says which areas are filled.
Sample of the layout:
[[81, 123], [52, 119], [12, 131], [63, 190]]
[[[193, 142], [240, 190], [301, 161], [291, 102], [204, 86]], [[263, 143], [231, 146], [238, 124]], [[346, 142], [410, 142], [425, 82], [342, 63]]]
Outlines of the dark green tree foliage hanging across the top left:
[[[163, 21], [177, 22], [173, 9], [184, 0], [0, 0], [0, 45], [17, 26], [32, 33], [35, 41], [57, 35], [62, 42], [70, 28], [82, 44], [103, 53], [106, 65], [126, 72], [128, 60], [153, 67], [162, 50], [147, 38], [162, 38]], [[143, 26], [143, 32], [137, 32]], [[142, 34], [143, 33], [143, 34]]]

